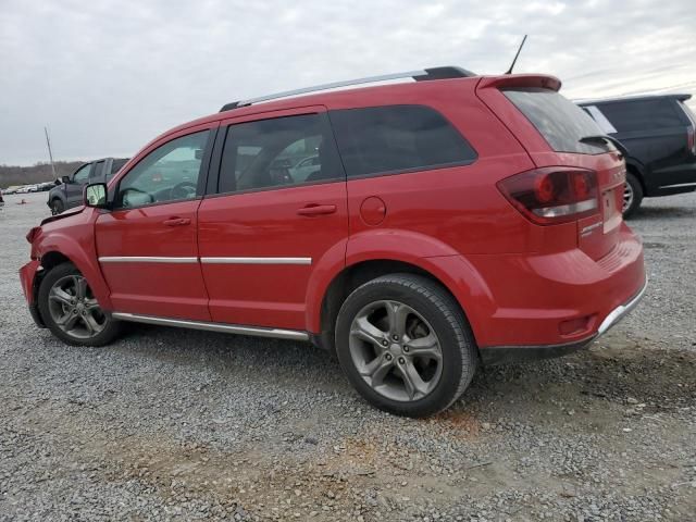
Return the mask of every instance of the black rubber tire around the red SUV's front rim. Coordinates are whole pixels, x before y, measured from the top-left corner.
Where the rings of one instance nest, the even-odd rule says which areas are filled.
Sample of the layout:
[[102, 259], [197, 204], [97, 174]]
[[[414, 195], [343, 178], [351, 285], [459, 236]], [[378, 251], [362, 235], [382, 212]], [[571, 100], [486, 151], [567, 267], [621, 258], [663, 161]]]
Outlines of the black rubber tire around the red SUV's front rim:
[[[62, 263], [52, 269], [44, 276], [38, 293], [38, 307], [41, 313], [44, 324], [49, 327], [51, 333], [63, 343], [72, 346], [104, 346], [115, 339], [121, 333], [121, 322], [109, 315], [103, 315], [103, 330], [91, 337], [75, 337], [64, 332], [55, 322], [51, 310], [49, 309], [49, 294], [51, 288], [66, 276], [80, 276], [77, 268], [72, 263]], [[89, 287], [87, 286], [89, 293]], [[90, 295], [90, 294], [89, 294]]]

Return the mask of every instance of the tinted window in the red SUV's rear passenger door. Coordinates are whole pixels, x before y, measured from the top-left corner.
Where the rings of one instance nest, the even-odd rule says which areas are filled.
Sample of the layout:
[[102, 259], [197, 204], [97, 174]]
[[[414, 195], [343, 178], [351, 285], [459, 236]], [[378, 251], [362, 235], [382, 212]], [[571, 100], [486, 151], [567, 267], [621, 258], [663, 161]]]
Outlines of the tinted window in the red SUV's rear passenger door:
[[[308, 158], [316, 158], [313, 165]], [[326, 116], [306, 114], [231, 125], [220, 192], [343, 179]]]

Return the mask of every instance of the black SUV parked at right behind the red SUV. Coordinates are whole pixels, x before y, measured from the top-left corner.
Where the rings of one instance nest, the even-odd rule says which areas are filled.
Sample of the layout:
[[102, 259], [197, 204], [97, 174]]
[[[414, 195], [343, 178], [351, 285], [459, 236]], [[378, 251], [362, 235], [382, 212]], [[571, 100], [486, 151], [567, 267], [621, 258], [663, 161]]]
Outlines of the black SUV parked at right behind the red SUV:
[[643, 198], [696, 189], [696, 116], [685, 103], [691, 97], [659, 95], [577, 103], [627, 149], [624, 216], [635, 212]]

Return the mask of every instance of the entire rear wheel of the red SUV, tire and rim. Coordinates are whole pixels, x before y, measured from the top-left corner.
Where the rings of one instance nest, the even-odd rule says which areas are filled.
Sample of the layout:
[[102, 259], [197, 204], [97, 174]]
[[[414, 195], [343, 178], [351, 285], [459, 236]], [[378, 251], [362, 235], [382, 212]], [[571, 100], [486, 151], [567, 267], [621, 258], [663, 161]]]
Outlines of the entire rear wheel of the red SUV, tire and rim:
[[360, 395], [413, 418], [448, 408], [471, 383], [478, 361], [455, 299], [413, 274], [377, 277], [350, 294], [338, 313], [336, 349]]

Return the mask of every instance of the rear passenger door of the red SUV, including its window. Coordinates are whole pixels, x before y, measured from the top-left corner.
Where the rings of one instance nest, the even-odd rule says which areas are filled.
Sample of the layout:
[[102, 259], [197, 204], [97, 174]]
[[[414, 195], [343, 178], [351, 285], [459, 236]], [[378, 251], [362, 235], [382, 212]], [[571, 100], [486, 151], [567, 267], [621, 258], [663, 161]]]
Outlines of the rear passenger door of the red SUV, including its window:
[[[198, 211], [213, 321], [306, 330], [312, 272], [325, 256], [343, 260], [348, 236], [345, 174], [325, 109], [229, 119], [215, 150], [211, 194]], [[313, 154], [316, 172], [295, 178], [288, 165]]]

